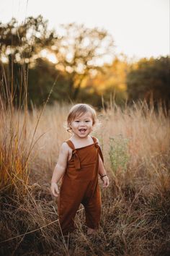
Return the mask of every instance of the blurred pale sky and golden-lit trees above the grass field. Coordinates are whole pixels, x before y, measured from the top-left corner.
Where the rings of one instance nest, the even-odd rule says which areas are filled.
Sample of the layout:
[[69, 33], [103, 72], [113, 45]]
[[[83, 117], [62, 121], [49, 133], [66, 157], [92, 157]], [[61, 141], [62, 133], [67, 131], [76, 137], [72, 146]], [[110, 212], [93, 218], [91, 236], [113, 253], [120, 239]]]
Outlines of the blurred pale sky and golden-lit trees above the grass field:
[[7, 0], [0, 7], [1, 82], [5, 70], [16, 105], [24, 65], [30, 109], [51, 90], [49, 104], [101, 108], [110, 98], [118, 105], [145, 99], [169, 108], [169, 0]]

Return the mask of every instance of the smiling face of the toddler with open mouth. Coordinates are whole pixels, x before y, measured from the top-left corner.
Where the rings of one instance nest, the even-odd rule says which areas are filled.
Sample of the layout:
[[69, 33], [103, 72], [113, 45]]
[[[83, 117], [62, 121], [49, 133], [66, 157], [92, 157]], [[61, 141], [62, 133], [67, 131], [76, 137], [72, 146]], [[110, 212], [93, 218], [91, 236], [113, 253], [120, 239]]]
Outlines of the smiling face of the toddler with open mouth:
[[71, 121], [70, 127], [74, 133], [79, 138], [87, 137], [93, 129], [93, 119], [90, 112], [86, 112], [82, 116], [76, 116], [73, 121]]

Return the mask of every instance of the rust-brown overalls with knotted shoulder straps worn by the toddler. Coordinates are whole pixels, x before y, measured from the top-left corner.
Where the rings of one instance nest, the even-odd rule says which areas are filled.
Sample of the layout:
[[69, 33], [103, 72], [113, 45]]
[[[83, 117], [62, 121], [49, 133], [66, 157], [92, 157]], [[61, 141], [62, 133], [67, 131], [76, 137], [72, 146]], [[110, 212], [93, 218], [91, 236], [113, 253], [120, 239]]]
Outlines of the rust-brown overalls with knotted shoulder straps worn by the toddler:
[[99, 227], [101, 216], [99, 155], [102, 161], [103, 155], [97, 139], [95, 137], [92, 139], [93, 144], [76, 149], [71, 140], [66, 141], [73, 151], [63, 175], [58, 197], [58, 216], [63, 234], [75, 229], [74, 217], [81, 203], [85, 209], [86, 226], [91, 229]]

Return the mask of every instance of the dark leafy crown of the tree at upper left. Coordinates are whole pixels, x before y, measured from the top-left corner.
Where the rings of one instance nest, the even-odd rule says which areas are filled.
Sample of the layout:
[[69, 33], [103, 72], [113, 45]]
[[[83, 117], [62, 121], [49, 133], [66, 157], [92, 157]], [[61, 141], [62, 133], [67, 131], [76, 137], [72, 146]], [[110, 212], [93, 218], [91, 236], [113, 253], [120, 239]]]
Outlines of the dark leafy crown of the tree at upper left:
[[43, 48], [48, 48], [56, 39], [55, 32], [48, 30], [48, 21], [42, 16], [27, 17], [24, 23], [12, 20], [0, 23], [0, 57], [14, 63], [30, 63]]

